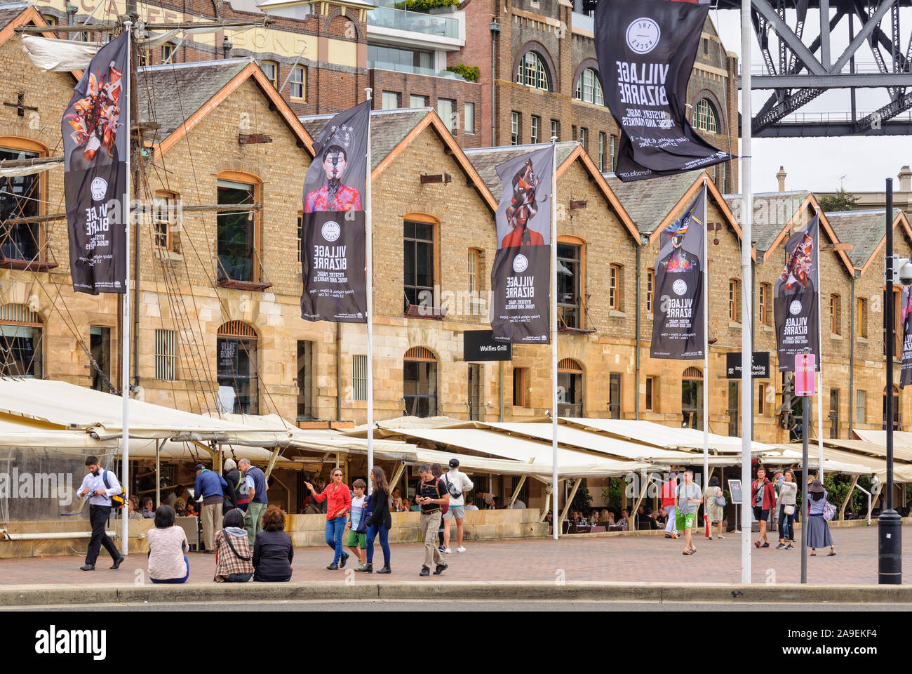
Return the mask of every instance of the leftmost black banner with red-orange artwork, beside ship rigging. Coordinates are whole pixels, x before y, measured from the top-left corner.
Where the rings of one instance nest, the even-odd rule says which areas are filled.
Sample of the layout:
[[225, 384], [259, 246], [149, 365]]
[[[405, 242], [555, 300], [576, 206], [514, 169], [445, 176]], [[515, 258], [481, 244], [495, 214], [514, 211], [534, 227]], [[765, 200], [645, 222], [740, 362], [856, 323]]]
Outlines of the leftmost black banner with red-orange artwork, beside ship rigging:
[[61, 122], [70, 275], [73, 290], [91, 295], [127, 291], [129, 39], [98, 49]]

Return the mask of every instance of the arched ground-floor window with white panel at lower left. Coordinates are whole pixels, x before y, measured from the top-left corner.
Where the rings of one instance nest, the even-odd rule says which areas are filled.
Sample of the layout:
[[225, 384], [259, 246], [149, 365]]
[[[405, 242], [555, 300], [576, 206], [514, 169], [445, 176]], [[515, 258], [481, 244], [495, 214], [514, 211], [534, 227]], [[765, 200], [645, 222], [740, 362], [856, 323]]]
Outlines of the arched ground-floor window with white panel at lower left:
[[216, 340], [219, 411], [260, 413], [256, 342], [256, 331], [244, 321], [228, 321], [219, 328]]

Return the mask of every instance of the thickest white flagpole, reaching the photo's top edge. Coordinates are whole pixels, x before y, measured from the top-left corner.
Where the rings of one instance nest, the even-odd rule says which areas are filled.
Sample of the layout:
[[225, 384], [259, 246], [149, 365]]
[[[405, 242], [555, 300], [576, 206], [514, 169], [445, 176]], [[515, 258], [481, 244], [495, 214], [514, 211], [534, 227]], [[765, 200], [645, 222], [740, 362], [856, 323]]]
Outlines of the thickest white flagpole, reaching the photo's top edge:
[[[741, 0], [741, 583], [751, 582], [751, 0]], [[743, 494], [746, 493], [747, 496]]]

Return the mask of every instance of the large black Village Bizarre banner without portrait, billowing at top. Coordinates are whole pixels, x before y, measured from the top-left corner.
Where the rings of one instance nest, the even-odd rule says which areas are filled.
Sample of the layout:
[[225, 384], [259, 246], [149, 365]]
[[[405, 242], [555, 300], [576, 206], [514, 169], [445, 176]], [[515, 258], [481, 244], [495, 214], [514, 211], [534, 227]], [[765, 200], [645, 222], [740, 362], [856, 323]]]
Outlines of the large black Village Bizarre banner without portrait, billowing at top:
[[729, 161], [690, 126], [685, 104], [709, 5], [603, 0], [596, 56], [605, 101], [621, 127], [615, 174], [623, 182]]

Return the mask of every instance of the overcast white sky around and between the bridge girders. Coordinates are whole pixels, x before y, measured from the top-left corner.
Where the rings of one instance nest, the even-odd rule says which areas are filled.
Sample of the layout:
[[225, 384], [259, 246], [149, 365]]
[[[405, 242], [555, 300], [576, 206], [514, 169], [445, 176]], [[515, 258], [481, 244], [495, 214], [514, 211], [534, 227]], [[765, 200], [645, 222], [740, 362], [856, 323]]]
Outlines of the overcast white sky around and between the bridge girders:
[[[901, 44], [906, 45], [909, 26], [912, 26], [912, 12], [900, 11], [900, 26], [903, 26]], [[725, 48], [737, 52], [740, 57], [741, 13], [733, 10], [710, 10], [710, 18], [718, 26]], [[794, 25], [793, 17], [788, 17], [787, 21]], [[819, 14], [814, 10], [810, 11], [804, 27], [804, 44], [810, 44], [819, 34], [819, 22]], [[882, 25], [889, 32], [889, 22], [885, 21]], [[833, 37], [832, 60], [839, 58], [848, 45], [847, 26], [847, 20], [844, 18], [838, 27], [840, 34]], [[858, 27], [856, 20], [856, 31]], [[778, 49], [774, 43], [771, 48], [773, 58], [777, 58]], [[756, 38], [752, 41], [751, 50], [751, 72], [759, 74], [763, 61]], [[874, 58], [866, 45], [859, 48], [856, 53], [856, 64], [861, 72], [876, 68]], [[772, 91], [768, 90], [753, 92], [754, 113], [771, 94]], [[739, 104], [740, 100], [739, 96]], [[860, 90], [857, 94], [857, 109], [862, 113], [874, 111], [885, 105], [888, 100], [885, 90]], [[811, 101], [800, 112], [833, 114], [847, 113], [850, 110], [848, 90], [834, 90]], [[885, 189], [884, 181], [888, 177], [894, 179], [894, 189], [898, 189], [896, 174], [899, 173], [901, 166], [912, 163], [912, 137], [755, 138], [752, 155], [754, 192], [777, 190], [776, 173], [780, 166], [784, 166], [788, 174], [785, 179], [786, 189], [823, 192], [845, 185], [845, 189], [850, 192], [882, 192]]]

